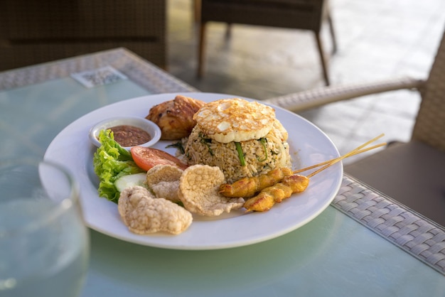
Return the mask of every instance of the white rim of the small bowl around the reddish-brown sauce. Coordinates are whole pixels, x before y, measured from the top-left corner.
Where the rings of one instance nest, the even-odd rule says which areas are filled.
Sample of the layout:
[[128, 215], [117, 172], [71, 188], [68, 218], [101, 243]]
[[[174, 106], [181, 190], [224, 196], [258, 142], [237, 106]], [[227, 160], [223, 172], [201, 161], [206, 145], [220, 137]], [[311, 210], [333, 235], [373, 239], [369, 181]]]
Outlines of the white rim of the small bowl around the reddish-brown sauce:
[[[148, 134], [150, 134], [151, 140], [146, 142], [145, 144], [139, 144], [138, 146], [153, 146], [154, 144], [156, 144], [156, 142], [159, 141], [159, 139], [161, 139], [161, 129], [159, 129], [159, 126], [154, 124], [153, 121], [149, 121], [148, 119], [145, 119], [143, 117], [112, 117], [109, 119], [104, 119], [103, 121], [95, 124], [95, 126], [92, 126], [89, 134], [91, 143], [97, 147], [100, 147], [100, 142], [97, 140], [97, 137], [99, 137], [99, 132], [101, 130], [106, 130], [120, 125], [135, 126], [143, 129]], [[132, 146], [122, 147], [127, 150], [132, 148]]]

